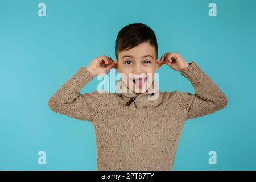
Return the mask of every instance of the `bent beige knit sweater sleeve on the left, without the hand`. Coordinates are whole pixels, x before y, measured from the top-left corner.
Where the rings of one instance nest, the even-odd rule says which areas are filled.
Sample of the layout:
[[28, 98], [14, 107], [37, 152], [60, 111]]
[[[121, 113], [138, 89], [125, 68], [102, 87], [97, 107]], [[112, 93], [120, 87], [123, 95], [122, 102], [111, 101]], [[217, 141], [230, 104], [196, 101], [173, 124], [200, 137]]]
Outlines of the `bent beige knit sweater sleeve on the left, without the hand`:
[[80, 90], [91, 80], [93, 76], [90, 72], [80, 67], [49, 99], [49, 108], [56, 113], [92, 122], [100, 109], [102, 96], [97, 91], [80, 94]]

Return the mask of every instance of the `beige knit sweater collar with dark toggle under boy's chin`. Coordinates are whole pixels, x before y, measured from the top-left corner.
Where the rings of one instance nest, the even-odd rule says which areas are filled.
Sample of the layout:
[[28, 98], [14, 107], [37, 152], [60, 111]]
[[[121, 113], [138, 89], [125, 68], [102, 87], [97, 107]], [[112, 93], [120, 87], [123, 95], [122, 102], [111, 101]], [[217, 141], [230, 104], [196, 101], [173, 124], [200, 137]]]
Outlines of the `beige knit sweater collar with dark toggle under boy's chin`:
[[130, 108], [156, 107], [162, 102], [162, 94], [155, 81], [144, 93], [134, 93], [123, 80], [117, 82], [116, 89], [118, 96], [125, 102], [125, 106]]

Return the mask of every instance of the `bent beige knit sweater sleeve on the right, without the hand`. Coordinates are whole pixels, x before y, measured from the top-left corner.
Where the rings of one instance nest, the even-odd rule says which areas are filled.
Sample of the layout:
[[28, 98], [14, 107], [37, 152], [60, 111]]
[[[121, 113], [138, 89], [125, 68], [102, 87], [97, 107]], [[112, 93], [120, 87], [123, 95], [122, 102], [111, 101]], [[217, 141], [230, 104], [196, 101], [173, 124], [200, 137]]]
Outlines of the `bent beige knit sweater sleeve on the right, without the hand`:
[[195, 63], [192, 61], [189, 66], [181, 72], [181, 75], [188, 78], [193, 85], [195, 94], [181, 92], [181, 105], [185, 108], [187, 119], [197, 118], [214, 113], [228, 104], [228, 98]]

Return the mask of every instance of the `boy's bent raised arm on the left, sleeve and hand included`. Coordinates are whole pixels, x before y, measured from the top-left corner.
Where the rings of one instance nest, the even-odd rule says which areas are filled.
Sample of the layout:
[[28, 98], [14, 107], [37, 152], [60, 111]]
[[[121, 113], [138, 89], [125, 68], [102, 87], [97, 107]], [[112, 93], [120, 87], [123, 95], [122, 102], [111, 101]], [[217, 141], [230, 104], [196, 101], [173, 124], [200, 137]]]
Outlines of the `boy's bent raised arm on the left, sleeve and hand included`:
[[96, 57], [86, 67], [80, 67], [67, 82], [50, 98], [48, 105], [56, 113], [68, 115], [69, 117], [93, 121], [93, 118], [101, 109], [102, 94], [94, 91], [92, 93], [80, 94], [80, 90], [101, 73], [107, 74], [112, 67], [118, 64], [106, 55]]

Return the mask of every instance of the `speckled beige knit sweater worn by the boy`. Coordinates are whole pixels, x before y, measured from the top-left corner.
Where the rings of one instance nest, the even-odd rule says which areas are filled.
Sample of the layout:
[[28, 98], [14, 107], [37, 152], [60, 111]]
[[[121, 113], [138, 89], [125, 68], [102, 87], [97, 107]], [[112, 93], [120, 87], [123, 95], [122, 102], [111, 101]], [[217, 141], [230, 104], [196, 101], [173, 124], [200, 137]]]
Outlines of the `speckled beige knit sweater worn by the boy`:
[[[180, 72], [193, 85], [188, 92], [92, 93], [80, 90], [93, 79], [80, 69], [48, 101], [51, 110], [92, 122], [97, 170], [172, 170], [184, 122], [224, 108], [228, 99], [195, 61]], [[120, 84], [122, 81], [119, 81]], [[149, 100], [148, 95], [159, 92]], [[127, 102], [136, 97], [127, 106]]]

